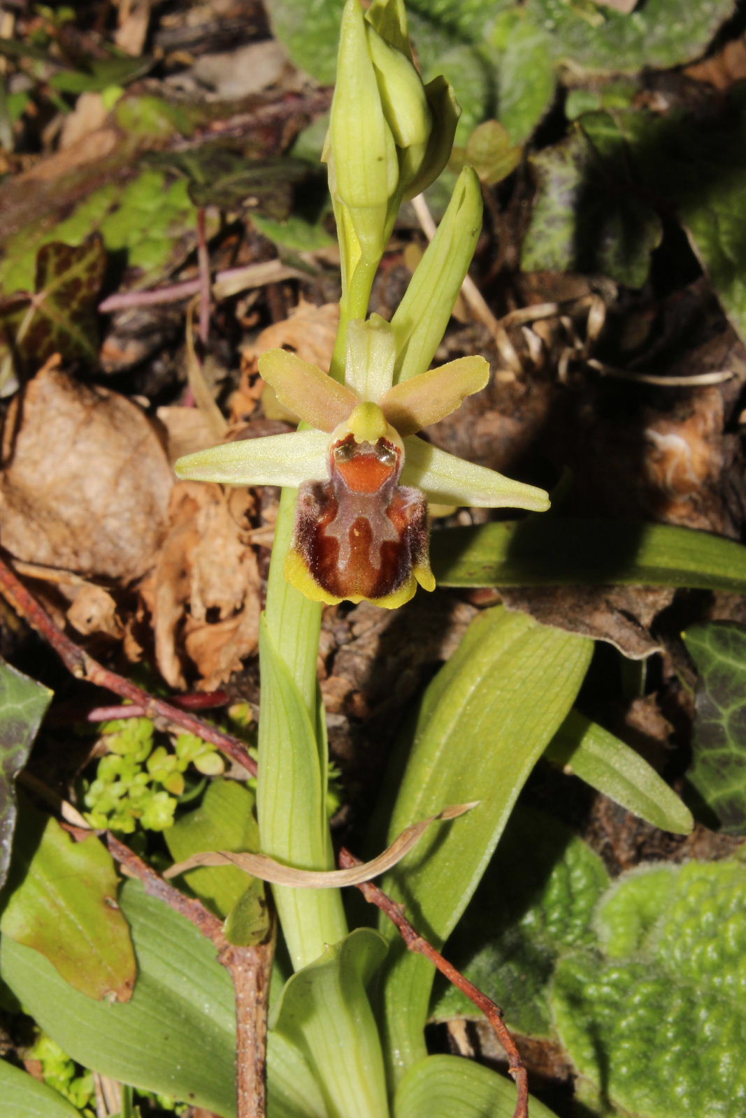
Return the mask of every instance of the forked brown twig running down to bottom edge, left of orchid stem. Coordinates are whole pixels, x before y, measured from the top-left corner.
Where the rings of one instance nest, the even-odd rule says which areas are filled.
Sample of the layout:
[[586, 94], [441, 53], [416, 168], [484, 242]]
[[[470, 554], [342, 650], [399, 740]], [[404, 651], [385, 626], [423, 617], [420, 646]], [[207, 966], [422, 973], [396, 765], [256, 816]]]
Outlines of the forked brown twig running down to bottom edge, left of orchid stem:
[[264, 1118], [266, 1114], [266, 1032], [274, 931], [262, 944], [237, 947], [223, 934], [223, 923], [205, 908], [163, 881], [147, 862], [107, 831], [106, 845], [130, 874], [142, 881], [150, 897], [158, 897], [190, 920], [217, 949], [236, 992], [236, 1089], [238, 1118]]

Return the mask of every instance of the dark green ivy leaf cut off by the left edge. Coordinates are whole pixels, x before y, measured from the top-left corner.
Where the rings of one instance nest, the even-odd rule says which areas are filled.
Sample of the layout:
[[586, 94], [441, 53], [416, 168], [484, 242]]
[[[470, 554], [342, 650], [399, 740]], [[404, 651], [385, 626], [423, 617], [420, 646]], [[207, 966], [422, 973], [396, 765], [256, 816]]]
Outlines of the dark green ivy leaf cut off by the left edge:
[[16, 777], [50, 702], [51, 691], [0, 660], [0, 889], [8, 877], [18, 813]]

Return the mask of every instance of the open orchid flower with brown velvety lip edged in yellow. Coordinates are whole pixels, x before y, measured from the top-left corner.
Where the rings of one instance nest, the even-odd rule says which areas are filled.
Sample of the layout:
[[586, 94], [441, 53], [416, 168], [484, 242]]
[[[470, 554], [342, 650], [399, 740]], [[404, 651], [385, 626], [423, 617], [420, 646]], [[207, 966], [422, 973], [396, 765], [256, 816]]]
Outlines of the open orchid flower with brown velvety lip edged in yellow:
[[312, 429], [227, 443], [177, 462], [179, 477], [299, 489], [285, 577], [308, 598], [363, 598], [391, 609], [435, 587], [427, 501], [541, 512], [544, 490], [417, 438], [484, 388], [489, 364], [464, 357], [394, 383], [396, 339], [378, 315], [348, 331], [344, 383], [286, 350], [259, 371]]

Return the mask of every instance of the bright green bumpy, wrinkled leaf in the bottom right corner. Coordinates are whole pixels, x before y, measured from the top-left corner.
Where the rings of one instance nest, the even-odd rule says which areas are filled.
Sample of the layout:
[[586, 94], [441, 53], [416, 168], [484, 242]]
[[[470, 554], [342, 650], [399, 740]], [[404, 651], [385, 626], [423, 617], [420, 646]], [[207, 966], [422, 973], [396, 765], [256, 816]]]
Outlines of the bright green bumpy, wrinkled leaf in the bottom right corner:
[[602, 900], [598, 949], [560, 960], [560, 1040], [606, 1106], [638, 1118], [739, 1118], [746, 1096], [746, 875], [654, 865]]

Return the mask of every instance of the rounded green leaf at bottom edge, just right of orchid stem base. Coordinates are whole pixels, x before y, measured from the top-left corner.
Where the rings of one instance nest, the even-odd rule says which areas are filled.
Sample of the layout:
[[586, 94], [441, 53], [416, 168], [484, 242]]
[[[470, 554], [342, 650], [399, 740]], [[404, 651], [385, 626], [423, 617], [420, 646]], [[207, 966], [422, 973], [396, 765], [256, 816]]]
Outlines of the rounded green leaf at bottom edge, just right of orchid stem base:
[[[402, 1080], [394, 1118], [512, 1118], [516, 1084], [473, 1060], [428, 1055]], [[531, 1118], [554, 1118], [531, 1099]]]

